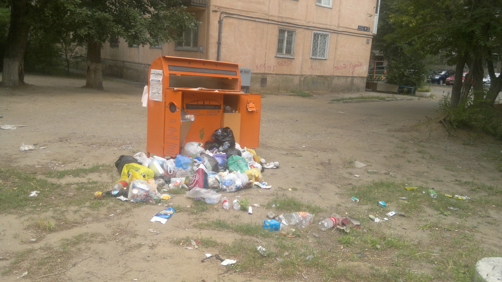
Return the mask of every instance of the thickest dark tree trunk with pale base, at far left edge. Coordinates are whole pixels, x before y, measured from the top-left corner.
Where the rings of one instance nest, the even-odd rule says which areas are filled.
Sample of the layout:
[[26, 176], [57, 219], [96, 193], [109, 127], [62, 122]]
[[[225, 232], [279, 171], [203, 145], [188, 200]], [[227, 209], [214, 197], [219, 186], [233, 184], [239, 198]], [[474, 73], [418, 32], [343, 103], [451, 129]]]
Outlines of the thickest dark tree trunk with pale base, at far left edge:
[[24, 56], [28, 45], [30, 24], [28, 0], [14, 0], [11, 3], [11, 22], [4, 55], [2, 85], [19, 87], [25, 82]]

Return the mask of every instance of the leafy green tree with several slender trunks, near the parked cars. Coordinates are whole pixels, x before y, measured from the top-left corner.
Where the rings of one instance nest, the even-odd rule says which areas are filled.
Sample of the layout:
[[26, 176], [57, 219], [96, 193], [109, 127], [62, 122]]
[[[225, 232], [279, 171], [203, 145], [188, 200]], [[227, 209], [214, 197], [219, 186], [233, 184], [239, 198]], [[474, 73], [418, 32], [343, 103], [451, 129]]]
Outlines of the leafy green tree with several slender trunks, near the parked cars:
[[[455, 77], [469, 69], [464, 89], [455, 83], [450, 106], [492, 105], [502, 90], [502, 76], [495, 76], [502, 54], [502, 3], [499, 0], [386, 0], [394, 44], [412, 43], [427, 54], [446, 51], [455, 65]], [[390, 38], [384, 38], [389, 40]], [[482, 88], [483, 64], [491, 77], [488, 91]], [[472, 78], [472, 82], [471, 82]], [[470, 89], [472, 86], [472, 93]]]

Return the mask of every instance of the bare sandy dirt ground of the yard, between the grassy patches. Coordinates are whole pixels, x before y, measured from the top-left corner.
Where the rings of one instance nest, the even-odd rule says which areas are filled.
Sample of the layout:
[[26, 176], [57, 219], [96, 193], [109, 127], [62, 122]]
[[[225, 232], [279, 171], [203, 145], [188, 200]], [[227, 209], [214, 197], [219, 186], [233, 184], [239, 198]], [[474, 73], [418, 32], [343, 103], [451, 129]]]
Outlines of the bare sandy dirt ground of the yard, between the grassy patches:
[[[141, 105], [142, 85], [106, 80], [104, 90], [92, 90], [81, 87], [85, 84], [83, 79], [40, 75], [27, 75], [26, 82], [29, 85], [21, 89], [0, 89], [0, 115], [3, 115], [0, 125], [26, 125], [0, 130], [0, 167], [16, 167], [26, 172], [84, 168], [94, 164], [113, 164], [120, 155], [145, 152], [147, 108]], [[236, 194], [248, 198], [252, 204], [263, 205], [278, 193], [284, 193], [325, 207], [326, 211], [343, 213], [343, 208], [353, 203], [338, 193], [353, 185], [375, 180], [424, 185], [455, 194], [472, 193], [465, 191], [465, 186], [459, 186], [456, 180], [499, 186], [502, 173], [489, 157], [500, 154], [502, 144], [482, 134], [456, 132], [455, 136], [448, 135], [443, 125], [434, 119], [438, 117], [435, 106], [450, 87], [433, 85], [432, 88], [435, 99], [364, 103], [328, 101], [361, 94], [399, 96], [372, 92], [316, 92], [314, 97], [263, 94], [257, 153], [267, 162], [280, 162], [281, 165], [264, 173], [265, 181], [273, 186], [271, 190], [246, 189]], [[22, 143], [35, 145], [36, 150], [20, 151]], [[410, 151], [404, 158], [399, 157], [402, 148]], [[425, 158], [419, 150], [427, 152]], [[368, 166], [353, 168], [349, 166], [351, 160]], [[368, 173], [367, 170], [378, 173]], [[116, 180], [107, 179], [108, 176], [93, 177], [109, 181], [110, 187]], [[75, 178], [62, 180], [63, 183], [75, 181]], [[295, 189], [289, 191], [289, 188]], [[176, 205], [191, 204], [191, 199], [183, 195], [172, 201]], [[50, 233], [34, 243], [26, 243], [32, 236], [25, 226], [39, 218], [51, 218], [51, 211], [37, 215], [3, 215], [0, 217], [0, 257], [5, 259], [0, 260], [0, 270], [11, 263], [12, 252], [56, 244], [62, 238], [83, 232], [101, 232], [113, 239], [106, 243], [96, 242], [81, 250], [79, 258], [83, 260], [64, 274], [37, 281], [256, 280], [253, 273], [224, 276], [221, 273], [226, 268], [219, 263], [201, 263], [205, 253], [214, 253], [210, 248], [201, 246], [190, 250], [170, 243], [175, 238], [186, 236], [212, 237], [231, 243], [240, 235], [194, 228], [191, 222], [199, 215], [183, 212], [173, 215], [164, 225], [150, 222], [151, 217], [162, 209], [155, 204], [123, 213], [70, 209], [66, 216], [79, 220], [81, 224]], [[113, 216], [110, 216], [111, 212]], [[220, 209], [215, 214], [202, 216], [260, 223], [266, 219], [267, 212], [255, 208], [253, 215], [236, 218], [231, 212]], [[502, 212], [495, 208], [489, 212], [498, 217], [491, 218], [496, 224], [484, 224], [482, 219], [473, 219], [467, 224], [480, 222], [475, 238], [483, 247], [502, 253], [499, 227]], [[416, 227], [416, 223], [404, 220], [400, 225]], [[143, 247], [127, 251], [121, 244], [124, 237], [114, 239], [122, 231], [137, 234], [129, 243], [142, 242]], [[410, 238], [422, 237], [422, 231], [416, 228], [396, 228], [395, 232]], [[260, 239], [249, 240], [260, 244]], [[156, 247], [153, 247], [154, 243]], [[30, 272], [30, 269], [26, 271]], [[21, 274], [0, 279], [28, 281], [35, 278], [28, 275], [17, 279]]]

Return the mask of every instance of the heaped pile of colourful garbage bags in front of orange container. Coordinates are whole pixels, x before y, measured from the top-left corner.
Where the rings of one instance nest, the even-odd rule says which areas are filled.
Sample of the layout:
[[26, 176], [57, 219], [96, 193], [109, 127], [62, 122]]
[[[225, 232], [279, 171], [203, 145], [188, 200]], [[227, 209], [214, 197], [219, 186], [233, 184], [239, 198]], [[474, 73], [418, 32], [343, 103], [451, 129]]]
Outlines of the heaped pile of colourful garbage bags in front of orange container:
[[[279, 167], [279, 162], [266, 163], [255, 150], [241, 148], [229, 127], [215, 130], [212, 137], [214, 142], [205, 145], [187, 143], [172, 159], [148, 158], [145, 153], [120, 156], [115, 162], [120, 179], [105, 195], [132, 202], [156, 202], [172, 197], [162, 191], [180, 188], [188, 190], [188, 197], [216, 204], [221, 199], [218, 192], [271, 188], [262, 172]], [[105, 195], [96, 192], [96, 198]]]

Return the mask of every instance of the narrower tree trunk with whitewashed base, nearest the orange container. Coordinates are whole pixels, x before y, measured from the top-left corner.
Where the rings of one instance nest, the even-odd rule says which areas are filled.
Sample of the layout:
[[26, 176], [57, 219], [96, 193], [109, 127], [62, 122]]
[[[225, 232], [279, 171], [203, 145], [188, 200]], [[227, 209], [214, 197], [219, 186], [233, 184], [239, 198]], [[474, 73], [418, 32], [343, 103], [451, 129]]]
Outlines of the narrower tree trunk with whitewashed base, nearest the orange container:
[[87, 40], [87, 67], [85, 87], [103, 89], [103, 66], [101, 64], [101, 43]]

